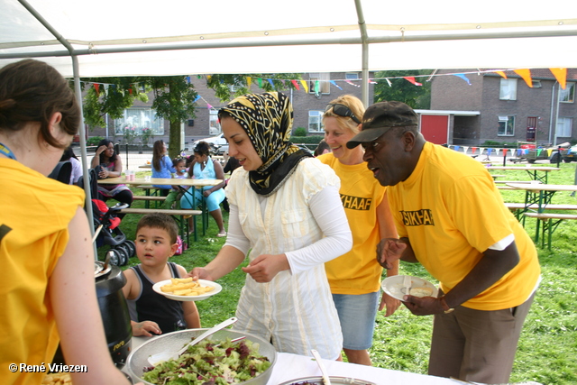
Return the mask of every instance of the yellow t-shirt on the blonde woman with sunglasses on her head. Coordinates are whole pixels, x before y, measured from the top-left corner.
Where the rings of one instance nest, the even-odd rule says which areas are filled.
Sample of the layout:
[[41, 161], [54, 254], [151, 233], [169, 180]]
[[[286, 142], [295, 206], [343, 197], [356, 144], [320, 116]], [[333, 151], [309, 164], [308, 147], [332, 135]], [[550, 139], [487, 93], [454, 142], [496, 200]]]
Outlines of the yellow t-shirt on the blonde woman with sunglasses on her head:
[[376, 250], [380, 241], [377, 206], [386, 188], [372, 175], [367, 163], [345, 165], [332, 153], [317, 157], [341, 179], [341, 200], [353, 233], [353, 249], [325, 263], [333, 294], [367, 294], [380, 289], [382, 268]]

